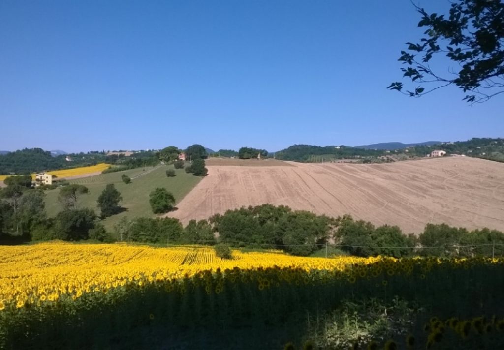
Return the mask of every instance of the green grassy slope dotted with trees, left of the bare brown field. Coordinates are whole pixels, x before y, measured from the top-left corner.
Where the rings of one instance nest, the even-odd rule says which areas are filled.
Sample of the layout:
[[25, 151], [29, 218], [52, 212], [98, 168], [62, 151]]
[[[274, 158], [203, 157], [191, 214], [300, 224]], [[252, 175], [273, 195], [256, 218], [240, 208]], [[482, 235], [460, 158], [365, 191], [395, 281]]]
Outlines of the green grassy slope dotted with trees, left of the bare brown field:
[[[94, 209], [97, 215], [100, 215], [100, 209], [96, 202], [98, 196], [107, 184], [113, 183], [115, 185], [122, 195], [120, 205], [126, 210], [103, 220], [107, 230], [111, 230], [122, 217], [154, 217], [149, 204], [149, 193], [156, 187], [164, 187], [173, 193], [178, 203], [201, 180], [201, 177], [187, 174], [183, 169], [175, 169], [176, 176], [167, 177], [167, 169], [174, 169], [173, 165], [137, 168], [70, 180], [69, 182], [89, 188], [89, 194], [83, 194], [79, 197], [78, 205], [80, 208]], [[130, 176], [132, 182], [128, 185], [124, 184], [121, 181], [122, 174]], [[62, 206], [58, 202], [58, 192], [59, 188], [46, 191], [45, 207], [49, 217], [54, 217], [62, 210]]]

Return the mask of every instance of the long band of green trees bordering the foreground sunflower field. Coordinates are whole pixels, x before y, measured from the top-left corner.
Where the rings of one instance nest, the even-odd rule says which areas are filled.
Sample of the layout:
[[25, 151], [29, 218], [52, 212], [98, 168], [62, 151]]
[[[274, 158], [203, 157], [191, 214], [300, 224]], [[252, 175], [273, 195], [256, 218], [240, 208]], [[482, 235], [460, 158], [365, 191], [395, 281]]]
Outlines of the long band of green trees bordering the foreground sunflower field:
[[[16, 192], [19, 191], [19, 192]], [[12, 191], [17, 193], [13, 195]], [[288, 206], [263, 204], [229, 210], [208, 220], [192, 220], [185, 227], [175, 218], [126, 217], [107, 232], [89, 208], [79, 208], [78, 200], [87, 189], [69, 185], [60, 190], [64, 210], [54, 219], [45, 214], [43, 191], [8, 186], [0, 192], [0, 228], [17, 232], [30, 240], [95, 239], [154, 244], [205, 244], [218, 242], [232, 247], [280, 249], [293, 255], [313, 255], [330, 247], [330, 254], [355, 256], [434, 255], [440, 257], [503, 255], [504, 234], [497, 230], [467, 230], [446, 224], [427, 224], [418, 236], [405, 235], [397, 226], [375, 227], [348, 215], [331, 218]], [[98, 204], [101, 217], [120, 211], [120, 193], [113, 184], [104, 189]], [[174, 197], [164, 188], [150, 195], [153, 213], [166, 213]], [[334, 249], [334, 247], [338, 249]]]

